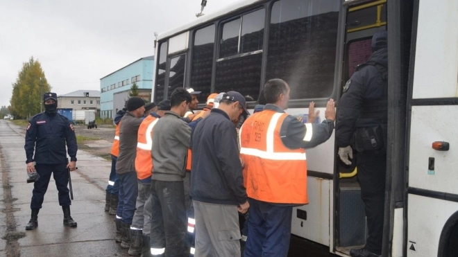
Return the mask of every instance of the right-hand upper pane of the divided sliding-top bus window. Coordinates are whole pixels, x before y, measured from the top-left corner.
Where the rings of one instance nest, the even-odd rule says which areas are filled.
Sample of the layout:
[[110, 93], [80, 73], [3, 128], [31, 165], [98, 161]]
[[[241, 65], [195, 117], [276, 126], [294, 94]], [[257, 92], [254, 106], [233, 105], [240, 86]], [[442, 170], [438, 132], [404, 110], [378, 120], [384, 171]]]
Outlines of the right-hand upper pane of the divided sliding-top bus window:
[[264, 9], [248, 13], [241, 18], [240, 53], [262, 49], [264, 37]]

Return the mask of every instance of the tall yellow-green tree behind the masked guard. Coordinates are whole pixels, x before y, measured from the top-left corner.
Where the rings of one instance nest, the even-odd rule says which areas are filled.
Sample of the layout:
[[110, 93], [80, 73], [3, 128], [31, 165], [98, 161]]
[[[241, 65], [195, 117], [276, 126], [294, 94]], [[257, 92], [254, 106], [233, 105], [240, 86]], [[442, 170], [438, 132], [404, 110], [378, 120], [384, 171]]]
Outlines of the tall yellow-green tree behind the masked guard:
[[51, 91], [44, 71], [38, 60], [33, 57], [22, 64], [16, 82], [12, 84], [10, 114], [17, 118], [30, 118], [40, 112], [43, 94]]

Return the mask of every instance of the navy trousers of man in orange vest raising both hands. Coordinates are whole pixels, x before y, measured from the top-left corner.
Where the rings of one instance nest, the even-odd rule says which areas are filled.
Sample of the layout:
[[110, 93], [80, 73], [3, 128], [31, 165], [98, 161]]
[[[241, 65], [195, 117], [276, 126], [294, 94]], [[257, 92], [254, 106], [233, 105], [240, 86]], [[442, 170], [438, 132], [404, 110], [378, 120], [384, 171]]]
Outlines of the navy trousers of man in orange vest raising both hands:
[[286, 257], [291, 238], [293, 206], [248, 198], [250, 218], [244, 257]]

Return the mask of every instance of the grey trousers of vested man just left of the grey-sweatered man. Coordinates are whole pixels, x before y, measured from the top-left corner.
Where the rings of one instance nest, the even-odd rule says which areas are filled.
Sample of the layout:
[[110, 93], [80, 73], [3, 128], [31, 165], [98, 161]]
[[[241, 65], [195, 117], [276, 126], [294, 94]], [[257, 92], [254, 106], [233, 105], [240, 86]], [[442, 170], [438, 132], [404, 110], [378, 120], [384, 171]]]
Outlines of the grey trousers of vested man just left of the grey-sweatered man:
[[[135, 204], [135, 213], [132, 220], [131, 229], [143, 230], [145, 227], [151, 227], [151, 212], [153, 211], [152, 205], [149, 204], [149, 208], [146, 208], [146, 202], [151, 202], [151, 183], [142, 184], [138, 181], [138, 196], [137, 203]], [[144, 235], [147, 235], [142, 232]]]

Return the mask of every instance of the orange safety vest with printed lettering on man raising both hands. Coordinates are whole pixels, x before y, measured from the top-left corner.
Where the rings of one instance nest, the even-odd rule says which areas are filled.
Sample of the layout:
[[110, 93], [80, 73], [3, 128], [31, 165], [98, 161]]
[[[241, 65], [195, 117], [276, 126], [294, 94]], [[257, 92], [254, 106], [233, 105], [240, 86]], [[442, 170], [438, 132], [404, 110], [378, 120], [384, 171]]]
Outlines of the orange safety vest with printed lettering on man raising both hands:
[[291, 150], [280, 138], [287, 116], [264, 110], [247, 118], [241, 126], [240, 156], [245, 163], [246, 193], [263, 202], [308, 204], [305, 150]]

